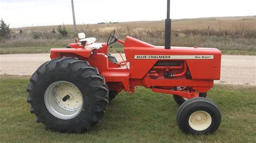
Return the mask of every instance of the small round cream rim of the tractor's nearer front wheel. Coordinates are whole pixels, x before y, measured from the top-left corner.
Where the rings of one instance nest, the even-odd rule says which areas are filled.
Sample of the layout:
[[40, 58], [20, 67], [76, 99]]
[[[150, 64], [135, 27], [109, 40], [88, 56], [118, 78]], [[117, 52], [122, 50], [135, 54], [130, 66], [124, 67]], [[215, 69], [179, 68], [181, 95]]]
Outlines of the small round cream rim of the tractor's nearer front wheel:
[[188, 124], [193, 130], [203, 131], [212, 124], [212, 117], [205, 111], [196, 111], [190, 115]]

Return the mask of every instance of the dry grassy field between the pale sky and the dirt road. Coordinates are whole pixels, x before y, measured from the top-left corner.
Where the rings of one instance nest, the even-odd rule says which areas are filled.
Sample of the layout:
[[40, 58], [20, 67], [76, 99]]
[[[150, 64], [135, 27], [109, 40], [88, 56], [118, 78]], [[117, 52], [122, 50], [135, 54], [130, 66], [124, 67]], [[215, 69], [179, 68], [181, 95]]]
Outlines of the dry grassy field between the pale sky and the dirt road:
[[[164, 20], [152, 22], [125, 22], [117, 24], [84, 24], [77, 25], [79, 32], [85, 32], [87, 37], [96, 37], [97, 42], [106, 42], [110, 32], [116, 29], [119, 39], [125, 39], [129, 34], [152, 45], [164, 45]], [[210, 33], [207, 36], [207, 28]], [[74, 42], [77, 35], [72, 33], [72, 25], [68, 37], [62, 37], [58, 32], [53, 34], [57, 26], [35, 26], [14, 28], [11, 38], [0, 40], [0, 54], [14, 53], [10, 47], [51, 47], [68, 45]], [[22, 29], [23, 33], [19, 34]], [[174, 19], [172, 22], [172, 46], [181, 47], [214, 47], [224, 53], [247, 54], [256, 53], [256, 17], [213, 17], [196, 19]], [[113, 47], [122, 47], [114, 44]], [[31, 49], [31, 48], [30, 48]], [[29, 53], [17, 48], [16, 53]], [[36, 52], [36, 51], [35, 51]], [[42, 52], [38, 51], [38, 52]]]

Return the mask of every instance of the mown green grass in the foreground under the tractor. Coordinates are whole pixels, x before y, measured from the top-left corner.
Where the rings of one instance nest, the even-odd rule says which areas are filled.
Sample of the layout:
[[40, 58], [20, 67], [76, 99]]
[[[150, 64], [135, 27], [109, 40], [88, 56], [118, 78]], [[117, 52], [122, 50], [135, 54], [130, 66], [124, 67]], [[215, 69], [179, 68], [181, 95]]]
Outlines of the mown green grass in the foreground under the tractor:
[[256, 88], [217, 84], [208, 98], [219, 105], [222, 123], [212, 135], [187, 135], [176, 123], [171, 95], [138, 88], [118, 95], [103, 119], [83, 134], [46, 131], [26, 103], [29, 77], [0, 76], [0, 142], [255, 142]]

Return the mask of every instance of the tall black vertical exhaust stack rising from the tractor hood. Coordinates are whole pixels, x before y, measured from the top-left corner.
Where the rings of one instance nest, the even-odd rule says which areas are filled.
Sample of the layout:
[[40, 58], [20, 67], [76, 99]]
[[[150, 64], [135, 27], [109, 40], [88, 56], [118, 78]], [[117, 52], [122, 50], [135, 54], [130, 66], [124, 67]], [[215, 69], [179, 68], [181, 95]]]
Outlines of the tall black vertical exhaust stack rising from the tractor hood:
[[170, 0], [167, 0], [167, 18], [165, 19], [165, 49], [171, 49]]

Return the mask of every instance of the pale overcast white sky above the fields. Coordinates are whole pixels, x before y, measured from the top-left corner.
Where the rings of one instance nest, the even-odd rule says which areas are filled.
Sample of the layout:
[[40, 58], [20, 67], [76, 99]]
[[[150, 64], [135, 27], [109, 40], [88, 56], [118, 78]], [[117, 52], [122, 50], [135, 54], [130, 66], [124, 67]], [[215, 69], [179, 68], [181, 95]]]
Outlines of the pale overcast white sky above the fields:
[[[77, 24], [163, 20], [167, 0], [73, 0]], [[171, 0], [171, 18], [256, 15], [256, 0]], [[10, 27], [72, 24], [71, 0], [0, 0]]]

